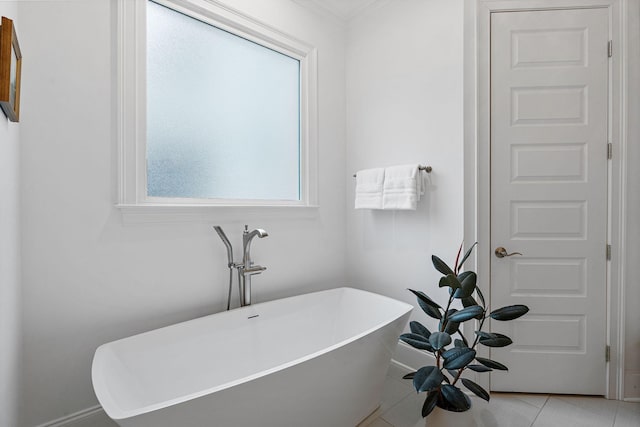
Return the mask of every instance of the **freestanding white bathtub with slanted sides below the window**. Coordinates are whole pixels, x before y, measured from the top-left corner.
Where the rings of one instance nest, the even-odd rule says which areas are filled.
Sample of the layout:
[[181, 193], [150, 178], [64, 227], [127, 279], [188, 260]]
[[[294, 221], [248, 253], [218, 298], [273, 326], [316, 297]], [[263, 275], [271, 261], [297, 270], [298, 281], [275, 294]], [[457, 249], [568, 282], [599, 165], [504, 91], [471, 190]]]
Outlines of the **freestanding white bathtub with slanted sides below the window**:
[[338, 288], [214, 314], [100, 346], [93, 388], [122, 427], [354, 427], [411, 309]]

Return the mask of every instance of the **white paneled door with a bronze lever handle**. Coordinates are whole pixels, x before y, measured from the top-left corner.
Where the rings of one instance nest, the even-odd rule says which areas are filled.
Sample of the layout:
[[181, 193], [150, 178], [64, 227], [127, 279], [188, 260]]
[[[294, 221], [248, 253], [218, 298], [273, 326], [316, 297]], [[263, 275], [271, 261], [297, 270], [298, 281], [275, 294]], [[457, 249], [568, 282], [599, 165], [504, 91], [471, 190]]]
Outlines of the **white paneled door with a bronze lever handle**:
[[491, 17], [491, 389], [606, 387], [608, 11]]

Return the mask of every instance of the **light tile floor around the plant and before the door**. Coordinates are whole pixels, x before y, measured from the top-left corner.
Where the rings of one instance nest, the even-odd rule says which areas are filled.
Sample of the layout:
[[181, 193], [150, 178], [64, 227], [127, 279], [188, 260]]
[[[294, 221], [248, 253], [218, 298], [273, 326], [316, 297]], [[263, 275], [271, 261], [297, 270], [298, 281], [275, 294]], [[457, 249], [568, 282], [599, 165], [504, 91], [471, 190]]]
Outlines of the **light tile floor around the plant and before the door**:
[[640, 403], [599, 397], [491, 393], [491, 402], [472, 398], [472, 408], [455, 414], [436, 409], [420, 415], [425, 394], [416, 394], [408, 371], [392, 364], [382, 404], [358, 427], [640, 427]]

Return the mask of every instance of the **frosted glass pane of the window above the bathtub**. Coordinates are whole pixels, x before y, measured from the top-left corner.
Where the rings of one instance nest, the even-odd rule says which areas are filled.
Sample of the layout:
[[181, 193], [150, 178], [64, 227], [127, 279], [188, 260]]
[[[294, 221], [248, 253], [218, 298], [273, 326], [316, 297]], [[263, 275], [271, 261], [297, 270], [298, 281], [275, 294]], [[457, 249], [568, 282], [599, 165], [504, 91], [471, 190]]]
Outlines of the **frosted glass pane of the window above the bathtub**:
[[147, 7], [147, 195], [300, 200], [300, 61]]

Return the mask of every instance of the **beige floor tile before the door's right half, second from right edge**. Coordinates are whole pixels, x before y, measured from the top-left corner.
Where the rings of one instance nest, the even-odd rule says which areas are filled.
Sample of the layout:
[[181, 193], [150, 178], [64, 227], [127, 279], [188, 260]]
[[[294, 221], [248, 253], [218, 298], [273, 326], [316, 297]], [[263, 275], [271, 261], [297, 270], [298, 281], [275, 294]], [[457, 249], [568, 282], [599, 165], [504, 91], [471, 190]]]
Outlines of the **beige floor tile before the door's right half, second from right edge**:
[[550, 396], [533, 427], [612, 427], [618, 402], [598, 397]]

